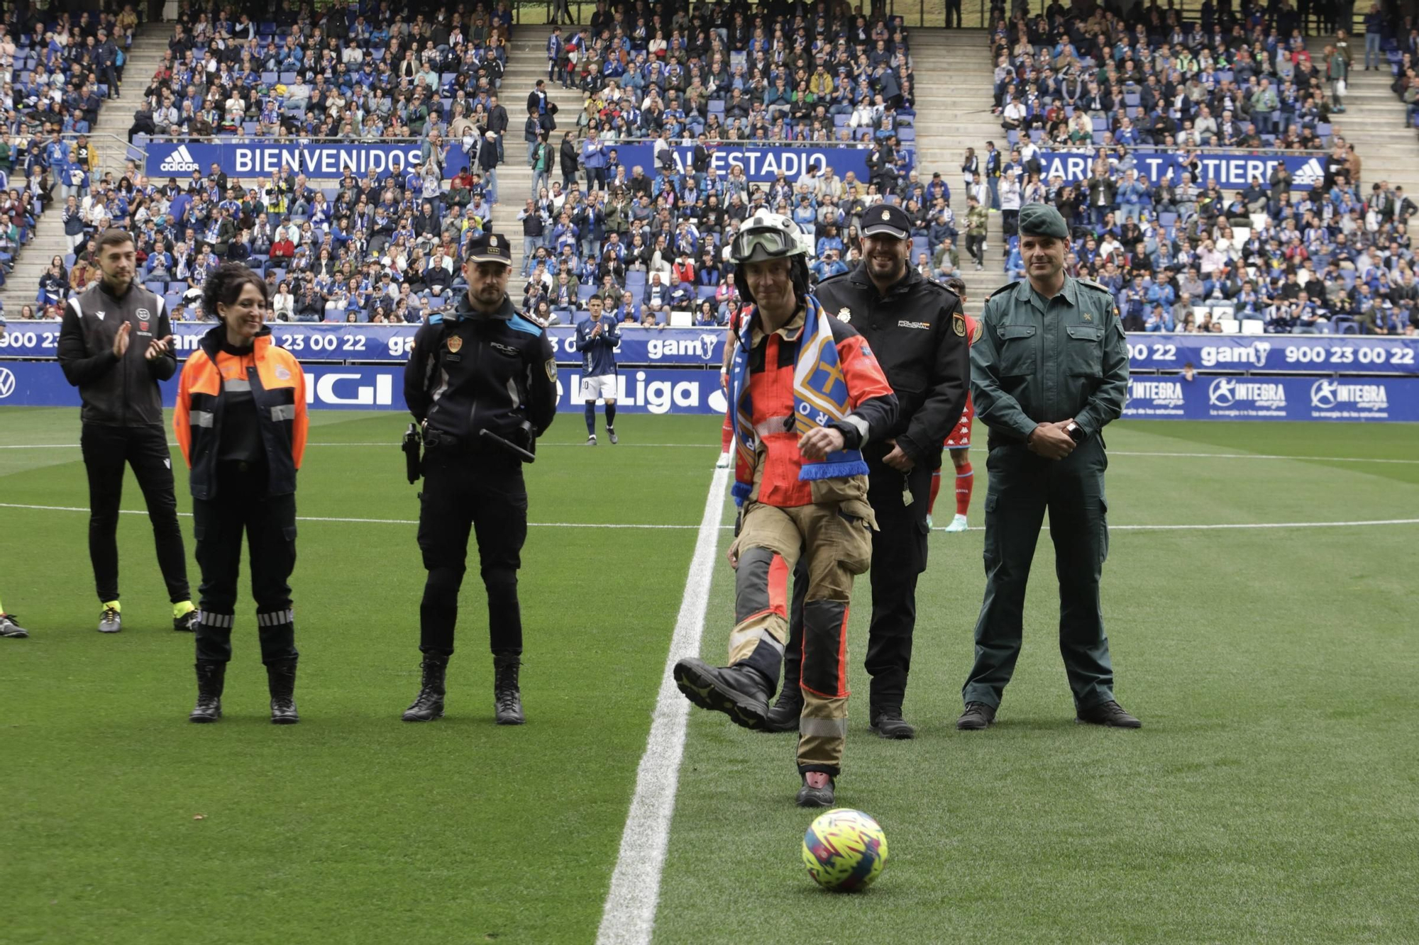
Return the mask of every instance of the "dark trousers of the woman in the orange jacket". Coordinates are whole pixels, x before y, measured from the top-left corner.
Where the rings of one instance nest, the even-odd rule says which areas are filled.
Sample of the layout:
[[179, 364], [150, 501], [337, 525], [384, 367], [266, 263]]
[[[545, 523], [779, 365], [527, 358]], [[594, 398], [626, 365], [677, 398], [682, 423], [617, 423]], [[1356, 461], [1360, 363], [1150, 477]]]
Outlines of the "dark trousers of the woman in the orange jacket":
[[295, 569], [295, 494], [267, 495], [265, 490], [264, 464], [221, 464], [217, 498], [192, 502], [201, 568], [199, 660], [231, 660], [243, 535], [251, 565], [251, 596], [257, 602], [261, 661], [271, 664], [299, 656], [289, 585]]

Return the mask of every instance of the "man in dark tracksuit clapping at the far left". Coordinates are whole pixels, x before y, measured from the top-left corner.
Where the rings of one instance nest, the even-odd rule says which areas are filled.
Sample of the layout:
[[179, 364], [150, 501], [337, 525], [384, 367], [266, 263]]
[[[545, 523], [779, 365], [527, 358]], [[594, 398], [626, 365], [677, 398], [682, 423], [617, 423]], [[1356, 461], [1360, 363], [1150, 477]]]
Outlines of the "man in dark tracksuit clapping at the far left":
[[79, 389], [79, 437], [89, 481], [89, 558], [104, 606], [98, 629], [122, 629], [118, 600], [118, 505], [123, 467], [132, 465], [148, 504], [158, 566], [173, 603], [173, 629], [193, 630], [187, 555], [177, 526], [172, 453], [163, 430], [159, 380], [177, 370], [163, 299], [133, 282], [133, 240], [105, 230], [98, 243], [102, 277], [64, 306], [60, 365]]

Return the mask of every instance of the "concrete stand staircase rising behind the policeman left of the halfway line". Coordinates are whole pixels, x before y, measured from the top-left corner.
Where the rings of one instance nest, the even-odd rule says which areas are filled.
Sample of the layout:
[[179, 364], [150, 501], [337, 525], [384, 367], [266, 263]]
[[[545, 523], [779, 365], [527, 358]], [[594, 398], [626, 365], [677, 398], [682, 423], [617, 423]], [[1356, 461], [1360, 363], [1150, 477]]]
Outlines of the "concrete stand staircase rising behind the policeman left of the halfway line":
[[[508, 131], [502, 138], [504, 162], [498, 165], [498, 203], [492, 207], [492, 231], [512, 240], [518, 274], [522, 272], [522, 224], [518, 223], [518, 213], [532, 196], [532, 169], [526, 162], [528, 149], [522, 140], [522, 125], [528, 116], [528, 95], [538, 79], [546, 78], [546, 41], [551, 35], [549, 26], [522, 24], [514, 30], [508, 48], [508, 68], [502, 74], [502, 88], [498, 91], [498, 102], [508, 109]], [[546, 91], [558, 108], [556, 131], [549, 138], [552, 149], [556, 150], [562, 145], [562, 135], [576, 129], [583, 96], [579, 91], [563, 89], [561, 82], [552, 81], [548, 81]], [[562, 172], [553, 169], [548, 179], [561, 180]], [[522, 284], [518, 278], [512, 281], [517, 284], [514, 297], [521, 298]]]

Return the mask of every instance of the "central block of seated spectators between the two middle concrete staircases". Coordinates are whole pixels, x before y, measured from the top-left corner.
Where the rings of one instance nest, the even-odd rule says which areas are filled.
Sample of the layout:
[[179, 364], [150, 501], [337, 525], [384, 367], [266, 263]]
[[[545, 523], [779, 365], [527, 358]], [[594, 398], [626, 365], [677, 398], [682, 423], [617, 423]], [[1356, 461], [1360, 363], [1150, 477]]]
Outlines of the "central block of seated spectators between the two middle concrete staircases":
[[[553, 30], [546, 62], [526, 102], [534, 193], [518, 219], [524, 302], [552, 321], [582, 316], [595, 294], [627, 324], [666, 325], [673, 312], [727, 322], [741, 304], [727, 247], [759, 209], [812, 234], [820, 277], [854, 262], [873, 203], [901, 201], [922, 233], [934, 206], [949, 211], [939, 176], [932, 190], [911, 169], [914, 77], [900, 18], [846, 4], [668, 13], [602, 1], [586, 26]], [[559, 133], [546, 82], [583, 96]], [[715, 160], [744, 140], [863, 142], [867, 173], [751, 182]], [[627, 142], [651, 143], [651, 159], [627, 166]]]

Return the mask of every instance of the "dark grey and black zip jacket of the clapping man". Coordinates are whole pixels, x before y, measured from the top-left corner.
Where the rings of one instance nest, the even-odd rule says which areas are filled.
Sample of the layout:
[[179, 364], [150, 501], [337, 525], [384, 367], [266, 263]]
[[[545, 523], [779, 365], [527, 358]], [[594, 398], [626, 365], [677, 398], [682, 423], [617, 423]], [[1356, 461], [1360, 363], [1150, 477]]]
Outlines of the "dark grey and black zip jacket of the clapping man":
[[[128, 353], [114, 355], [114, 338], [123, 322], [132, 325]], [[79, 389], [84, 423], [145, 426], [163, 423], [159, 380], [177, 372], [173, 350], [143, 358], [148, 346], [167, 338], [172, 326], [163, 299], [133, 282], [123, 298], [104, 288], [104, 280], [89, 285], [64, 305], [60, 325], [60, 366], [64, 377]]]

